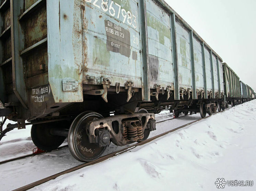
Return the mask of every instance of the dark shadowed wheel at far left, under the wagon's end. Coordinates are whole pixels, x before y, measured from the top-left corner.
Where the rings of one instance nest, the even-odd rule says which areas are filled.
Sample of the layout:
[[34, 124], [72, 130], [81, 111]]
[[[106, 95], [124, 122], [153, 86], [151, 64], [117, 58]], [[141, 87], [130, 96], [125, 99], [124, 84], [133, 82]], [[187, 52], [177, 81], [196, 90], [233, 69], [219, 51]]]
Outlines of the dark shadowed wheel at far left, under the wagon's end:
[[66, 139], [66, 137], [52, 135], [52, 128], [69, 128], [70, 123], [67, 122], [52, 122], [32, 125], [31, 138], [35, 146], [44, 151], [57, 149]]

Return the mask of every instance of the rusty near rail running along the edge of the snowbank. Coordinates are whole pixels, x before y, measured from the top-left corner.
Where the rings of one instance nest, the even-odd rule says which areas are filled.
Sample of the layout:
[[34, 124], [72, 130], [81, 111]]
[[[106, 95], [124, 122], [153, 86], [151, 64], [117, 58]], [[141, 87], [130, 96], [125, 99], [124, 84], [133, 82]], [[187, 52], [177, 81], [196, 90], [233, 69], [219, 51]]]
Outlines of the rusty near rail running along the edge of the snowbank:
[[[229, 109], [229, 108], [228, 108], [228, 109]], [[226, 109], [226, 110], [228, 110], [228, 109]], [[223, 112], [223, 111], [220, 111], [220, 112]], [[217, 113], [219, 113], [219, 112], [217, 112]], [[214, 113], [214, 114], [217, 114], [217, 113]], [[214, 115], [214, 114], [213, 114], [213, 115]], [[185, 115], [184, 115], [184, 116], [185, 116]], [[181, 116], [181, 117], [184, 117], [184, 116]], [[159, 137], [162, 137], [162, 136], [164, 136], [164, 135], [166, 135], [166, 134], [168, 134], [168, 133], [177, 131], [178, 129], [184, 128], [184, 127], [186, 127], [186, 126], [189, 126], [189, 125], [191, 125], [191, 124], [193, 124], [193, 123], [196, 123], [196, 122], [198, 122], [198, 121], [204, 120], [204, 119], [209, 118], [209, 117], [211, 117], [211, 115], [209, 115], [209, 116], [207, 116], [207, 117], [205, 117], [205, 118], [198, 119], [198, 120], [196, 120], [196, 121], [187, 123], [187, 124], [185, 124], [185, 125], [179, 126], [179, 127], [177, 127], [177, 128], [174, 128], [174, 129], [172, 129], [172, 130], [170, 130], [170, 131], [167, 131], [167, 132], [164, 132], [164, 133], [162, 133], [162, 134], [156, 135], [156, 136], [151, 137], [151, 138], [149, 138], [149, 139], [147, 139], [147, 140], [145, 140], [145, 141], [143, 141], [143, 142], [139, 142], [139, 143], [137, 143], [137, 144], [133, 144], [133, 145], [131, 145], [131, 146], [125, 148], [125, 149], [121, 149], [121, 150], [119, 150], [119, 151], [116, 151], [116, 152], [113, 152], [113, 153], [109, 153], [109, 154], [107, 154], [107, 155], [105, 155], [105, 156], [102, 156], [102, 157], [96, 159], [95, 161], [83, 163], [83, 164], [81, 164], [81, 165], [78, 165], [78, 166], [72, 167], [72, 168], [70, 168], [70, 169], [64, 170], [64, 171], [62, 171], [62, 172], [60, 172], [60, 173], [57, 173], [57, 174], [55, 174], [55, 175], [51, 175], [51, 176], [46, 177], [46, 178], [43, 178], [43, 179], [41, 179], [41, 180], [32, 182], [32, 183], [30, 183], [30, 184], [28, 184], [28, 185], [26, 185], [26, 186], [23, 186], [23, 187], [20, 187], [20, 188], [18, 188], [18, 189], [15, 189], [14, 191], [24, 191], [24, 190], [28, 190], [28, 189], [34, 188], [35, 186], [41, 185], [41, 184], [43, 184], [43, 183], [45, 183], [45, 182], [47, 182], [47, 181], [49, 181], [49, 180], [53, 180], [53, 179], [55, 179], [55, 178], [57, 178], [57, 177], [59, 177], [59, 176], [61, 176], [61, 175], [64, 175], [64, 174], [73, 172], [73, 171], [78, 170], [78, 169], [81, 169], [81, 168], [83, 168], [83, 167], [85, 167], [85, 166], [90, 166], [90, 165], [93, 165], [93, 164], [100, 163], [100, 162], [105, 161], [105, 160], [107, 160], [107, 159], [109, 159], [109, 158], [112, 158], [113, 156], [117, 156], [117, 155], [119, 155], [119, 154], [125, 153], [125, 152], [127, 152], [127, 151], [129, 151], [129, 150], [131, 150], [131, 149], [134, 149], [134, 148], [138, 147], [138, 146], [147, 144], [147, 143], [149, 143], [149, 142], [151, 142], [151, 141], [153, 141], [153, 140], [155, 140], [155, 139], [157, 139], [157, 138], [159, 138]], [[175, 119], [175, 118], [171, 118], [171, 119], [168, 119], [168, 120], [172, 120], [172, 119]], [[160, 122], [158, 122], [158, 123], [161, 123], [161, 122], [164, 122], [164, 121], [168, 121], [168, 120], [163, 120], [163, 121], [160, 121]]]

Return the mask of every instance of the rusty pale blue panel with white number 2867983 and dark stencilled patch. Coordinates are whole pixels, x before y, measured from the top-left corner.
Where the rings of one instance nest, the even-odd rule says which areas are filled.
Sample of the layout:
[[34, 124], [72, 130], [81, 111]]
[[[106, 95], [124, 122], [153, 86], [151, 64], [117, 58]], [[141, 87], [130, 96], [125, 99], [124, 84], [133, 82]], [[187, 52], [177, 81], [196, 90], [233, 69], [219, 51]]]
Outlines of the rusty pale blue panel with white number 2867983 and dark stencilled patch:
[[83, 84], [142, 87], [138, 13], [137, 0], [82, 3]]

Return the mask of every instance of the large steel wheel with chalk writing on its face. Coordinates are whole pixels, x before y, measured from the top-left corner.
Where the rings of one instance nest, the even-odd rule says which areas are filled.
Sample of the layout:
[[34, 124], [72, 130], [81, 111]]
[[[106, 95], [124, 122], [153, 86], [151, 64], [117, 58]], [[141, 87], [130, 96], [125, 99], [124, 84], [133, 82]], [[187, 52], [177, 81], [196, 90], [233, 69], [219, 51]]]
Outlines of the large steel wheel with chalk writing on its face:
[[106, 147], [99, 144], [90, 143], [85, 126], [89, 121], [103, 118], [99, 113], [88, 111], [78, 115], [70, 126], [68, 134], [68, 146], [75, 159], [81, 162], [90, 162], [98, 159]]

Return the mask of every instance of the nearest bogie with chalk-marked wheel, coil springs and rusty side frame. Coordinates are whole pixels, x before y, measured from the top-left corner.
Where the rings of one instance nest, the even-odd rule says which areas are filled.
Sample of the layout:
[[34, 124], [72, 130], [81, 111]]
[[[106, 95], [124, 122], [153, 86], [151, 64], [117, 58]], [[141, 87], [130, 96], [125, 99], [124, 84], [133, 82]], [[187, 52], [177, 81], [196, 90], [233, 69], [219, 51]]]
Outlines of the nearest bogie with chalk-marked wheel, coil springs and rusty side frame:
[[140, 142], [146, 140], [153, 130], [154, 114], [146, 110], [108, 118], [92, 111], [83, 112], [69, 129], [69, 150], [75, 159], [89, 162], [99, 158], [110, 142], [118, 146]]

